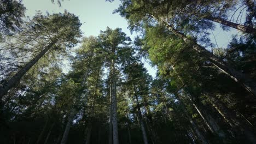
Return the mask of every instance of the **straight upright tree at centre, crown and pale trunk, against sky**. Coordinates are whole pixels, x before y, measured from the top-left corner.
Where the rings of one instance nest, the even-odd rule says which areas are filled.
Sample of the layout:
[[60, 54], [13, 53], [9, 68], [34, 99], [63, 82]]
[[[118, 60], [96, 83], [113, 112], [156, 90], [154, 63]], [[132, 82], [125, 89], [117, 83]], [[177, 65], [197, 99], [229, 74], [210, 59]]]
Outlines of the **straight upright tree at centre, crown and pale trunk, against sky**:
[[[118, 119], [117, 119], [117, 69], [115, 63], [117, 63], [117, 58], [121, 56], [117, 56], [118, 51], [120, 51], [123, 47], [128, 46], [131, 39], [126, 37], [124, 32], [121, 32], [120, 28], [110, 29], [107, 27], [106, 31], [101, 31], [101, 34], [98, 37], [100, 39], [100, 43], [106, 51], [106, 60], [108, 62], [109, 67], [109, 88], [110, 88], [110, 113], [112, 113], [113, 118], [113, 143], [118, 144]], [[111, 118], [111, 115], [110, 115]], [[112, 123], [109, 122], [110, 124]], [[110, 132], [112, 133], [112, 132]]]

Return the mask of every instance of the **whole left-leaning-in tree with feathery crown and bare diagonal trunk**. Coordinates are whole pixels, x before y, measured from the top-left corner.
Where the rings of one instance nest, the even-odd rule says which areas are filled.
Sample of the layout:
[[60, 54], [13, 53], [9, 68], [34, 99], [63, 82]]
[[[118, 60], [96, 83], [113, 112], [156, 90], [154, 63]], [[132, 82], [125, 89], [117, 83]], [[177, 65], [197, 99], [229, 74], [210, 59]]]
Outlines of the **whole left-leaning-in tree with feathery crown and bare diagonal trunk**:
[[[64, 22], [65, 21], [65, 22]], [[0, 98], [2, 98], [10, 88], [14, 87], [22, 76], [36, 64], [48, 51], [65, 51], [67, 47], [73, 47], [78, 43], [81, 26], [78, 17], [65, 12], [64, 14], [37, 15], [27, 23], [26, 29], [19, 35], [13, 36], [16, 40], [24, 41], [25, 46], [39, 49], [39, 52], [9, 80], [2, 81], [0, 87]], [[69, 29], [70, 31], [66, 31]], [[37, 39], [34, 39], [37, 38]], [[27, 42], [28, 40], [28, 42]], [[34, 44], [36, 43], [36, 44]], [[23, 45], [22, 45], [23, 46]], [[21, 47], [22, 48], [22, 47]]]

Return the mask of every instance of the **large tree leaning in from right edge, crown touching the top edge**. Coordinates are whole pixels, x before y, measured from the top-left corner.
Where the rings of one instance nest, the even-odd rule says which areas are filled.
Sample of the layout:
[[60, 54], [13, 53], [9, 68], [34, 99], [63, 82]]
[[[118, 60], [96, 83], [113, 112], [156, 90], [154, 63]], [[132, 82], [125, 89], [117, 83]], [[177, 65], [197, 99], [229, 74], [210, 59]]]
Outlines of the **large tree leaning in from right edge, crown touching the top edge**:
[[[195, 29], [195, 32], [200, 31], [200, 29], [209, 28], [208, 23], [195, 23], [193, 28], [190, 27], [191, 22], [188, 21], [189, 29], [183, 29], [185, 24], [180, 23], [182, 19], [181, 16], [170, 17], [170, 13], [173, 11], [169, 11], [171, 5], [166, 5], [164, 2], [149, 2], [149, 1], [123, 1], [123, 5], [120, 5], [117, 12], [119, 12], [122, 16], [126, 17], [129, 20], [129, 24], [131, 29], [143, 27], [145, 25], [159, 25], [164, 26], [168, 31], [170, 31], [174, 37], [182, 39], [185, 44], [192, 45], [191, 49], [195, 50], [197, 53], [201, 55], [202, 58], [206, 58], [208, 61], [213, 63], [216, 68], [220, 71], [228, 75], [231, 79], [240, 83], [241, 86], [245, 87], [248, 92], [251, 92], [253, 95], [256, 95], [256, 85], [255, 82], [250, 79], [245, 74], [242, 74], [240, 71], [235, 70], [228, 63], [224, 62], [222, 59], [213, 55], [211, 52], [207, 51], [203, 46], [197, 43], [196, 39], [188, 37], [186, 34], [189, 29], [192, 29], [191, 32]], [[174, 5], [174, 8], [176, 6]], [[180, 11], [180, 10], [179, 10]], [[174, 13], [174, 16], [176, 13]], [[182, 21], [186, 22], [186, 21]], [[149, 24], [147, 24], [149, 23]], [[184, 31], [187, 30], [187, 31]], [[189, 33], [188, 33], [189, 34]]]

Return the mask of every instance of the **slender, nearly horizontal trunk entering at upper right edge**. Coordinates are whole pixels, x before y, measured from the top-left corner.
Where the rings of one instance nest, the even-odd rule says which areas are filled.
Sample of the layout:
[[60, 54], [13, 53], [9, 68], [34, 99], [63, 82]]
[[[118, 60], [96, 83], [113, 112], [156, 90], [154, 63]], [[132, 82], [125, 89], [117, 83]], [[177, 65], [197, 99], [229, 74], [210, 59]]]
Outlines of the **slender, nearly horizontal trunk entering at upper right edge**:
[[255, 28], [247, 27], [247, 26], [243, 26], [243, 25], [238, 25], [237, 23], [226, 21], [226, 20], [220, 19], [218, 17], [208, 16], [208, 17], [205, 17], [205, 19], [220, 23], [220, 24], [228, 26], [228, 27], [238, 29], [239, 31], [242, 31], [242, 32], [245, 32], [245, 33], [252, 33], [252, 34], [256, 33]]

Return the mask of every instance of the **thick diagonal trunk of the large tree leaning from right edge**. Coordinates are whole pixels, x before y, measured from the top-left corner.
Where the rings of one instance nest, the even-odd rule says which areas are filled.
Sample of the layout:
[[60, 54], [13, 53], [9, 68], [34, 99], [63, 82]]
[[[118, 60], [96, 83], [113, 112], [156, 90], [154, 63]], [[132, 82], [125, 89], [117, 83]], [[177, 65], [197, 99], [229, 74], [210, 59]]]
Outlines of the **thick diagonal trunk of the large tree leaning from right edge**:
[[235, 70], [234, 68], [230, 67], [230, 65], [223, 62], [220, 58], [213, 55], [211, 52], [207, 51], [204, 47], [197, 44], [196, 41], [189, 39], [183, 33], [178, 32], [172, 26], [168, 25], [168, 23], [164, 22], [165, 26], [175, 34], [177, 37], [183, 39], [185, 43], [192, 45], [193, 49], [198, 52], [202, 57], [208, 59], [212, 64], [214, 64], [220, 71], [223, 71], [226, 75], [228, 75], [231, 79], [235, 80], [236, 82], [240, 83], [242, 87], [244, 87], [248, 92], [252, 93], [256, 96], [256, 83], [250, 79], [245, 74]]

